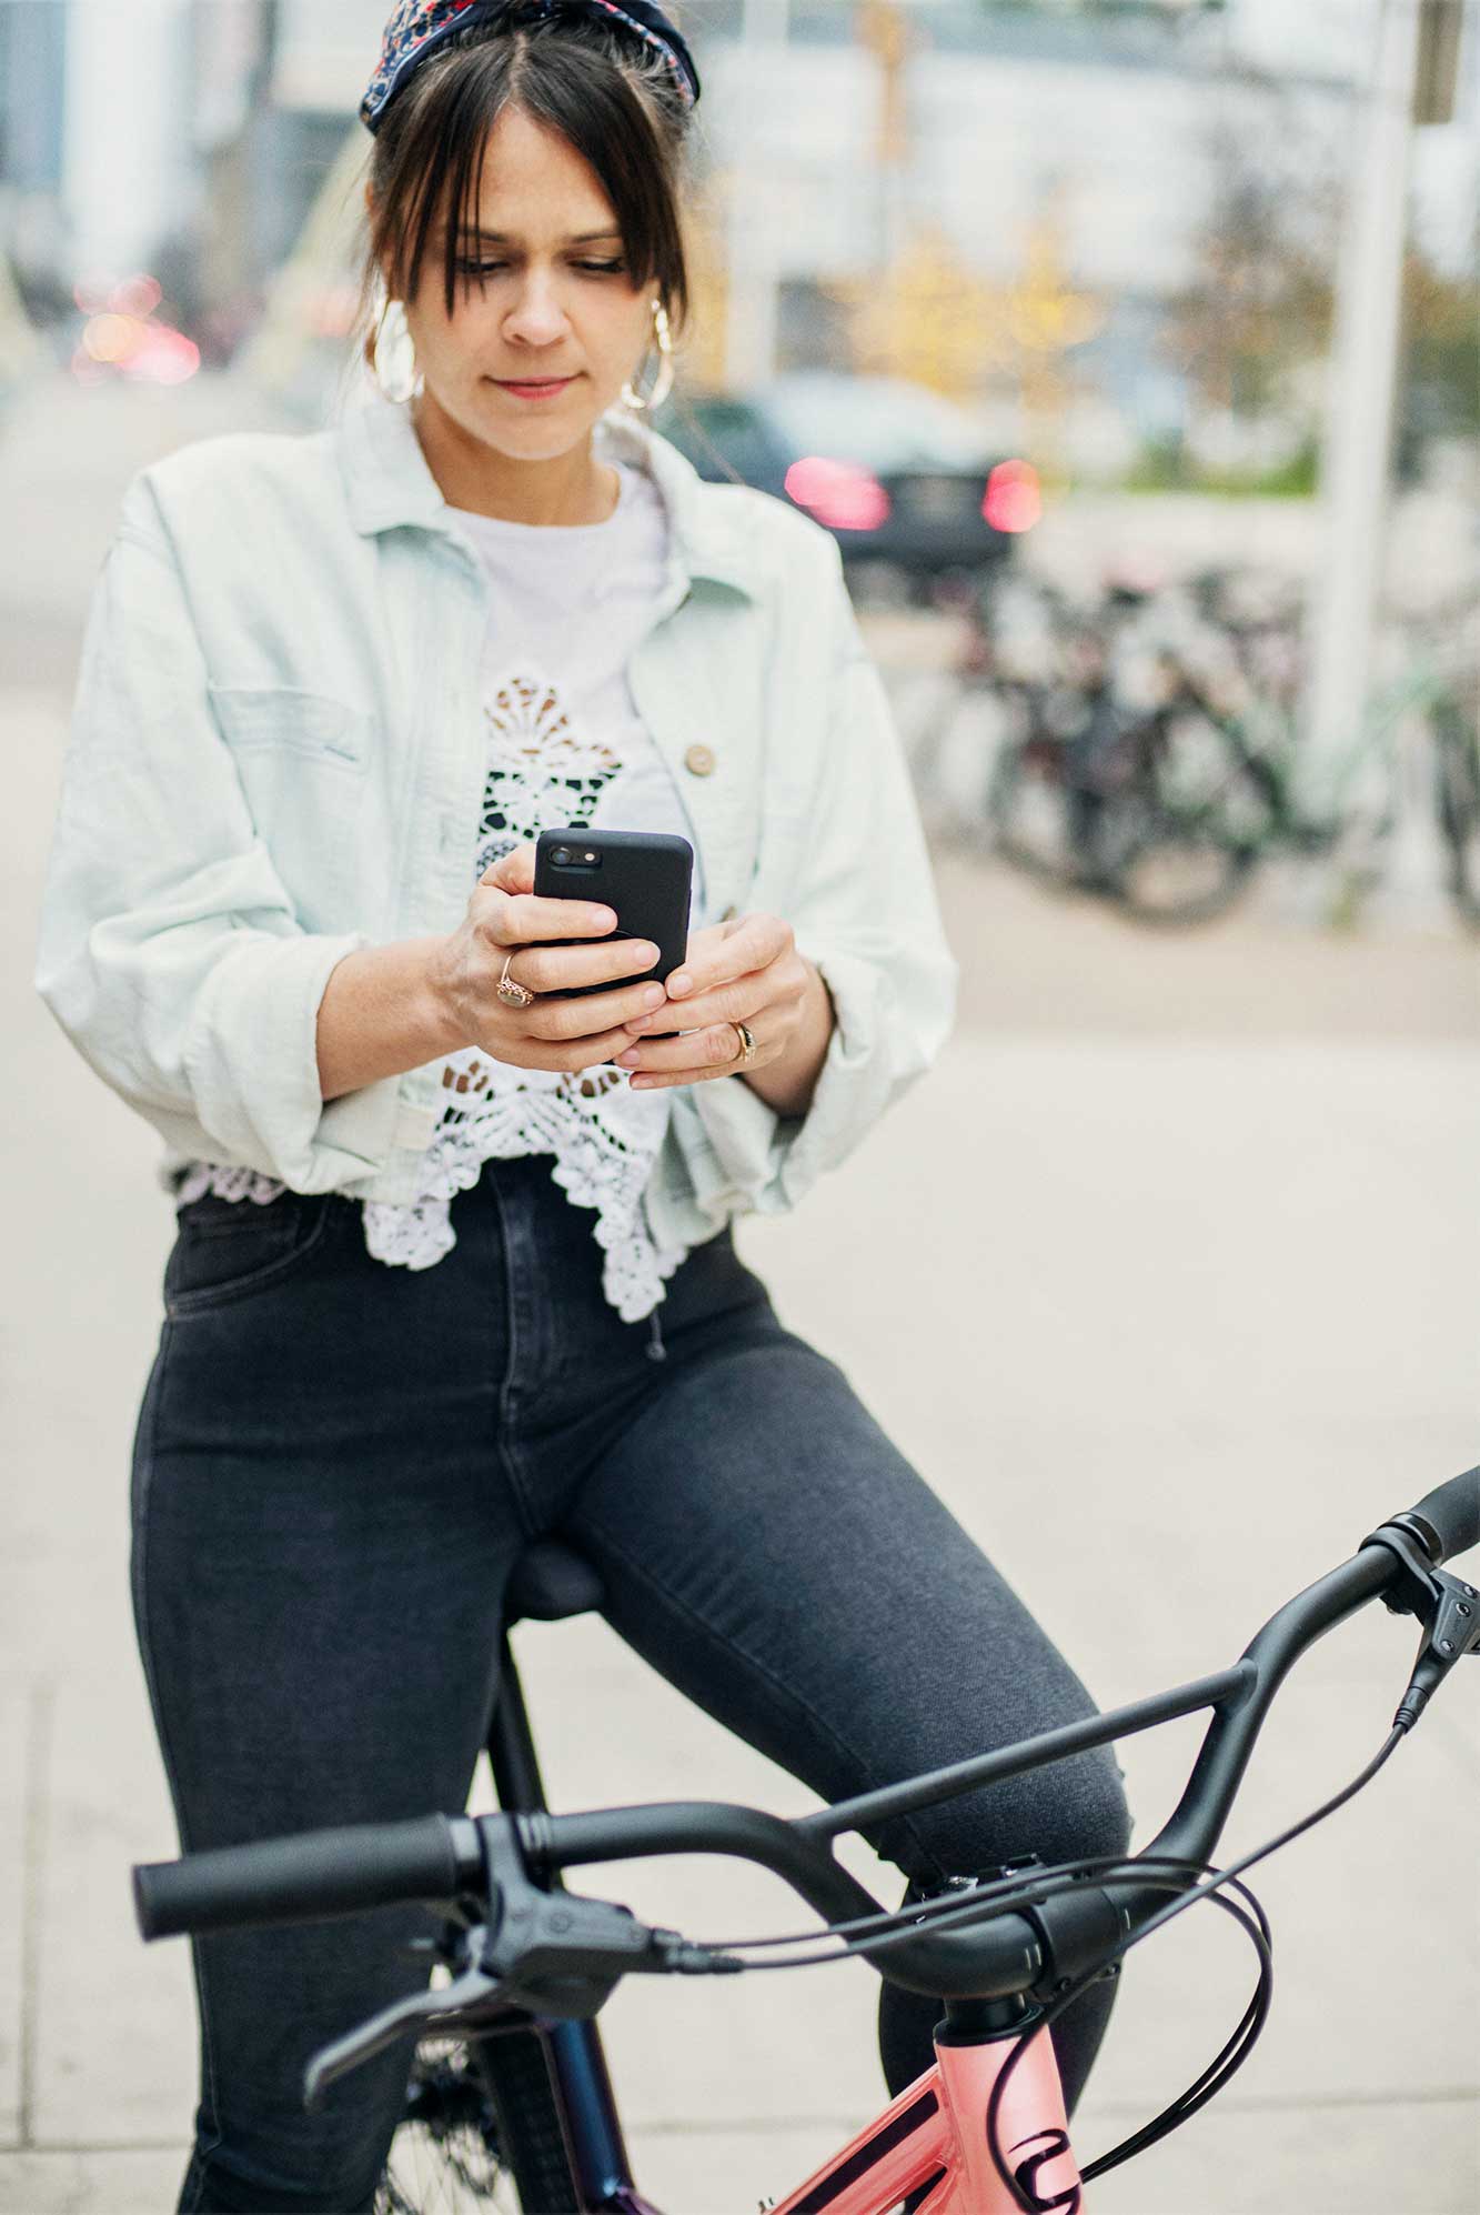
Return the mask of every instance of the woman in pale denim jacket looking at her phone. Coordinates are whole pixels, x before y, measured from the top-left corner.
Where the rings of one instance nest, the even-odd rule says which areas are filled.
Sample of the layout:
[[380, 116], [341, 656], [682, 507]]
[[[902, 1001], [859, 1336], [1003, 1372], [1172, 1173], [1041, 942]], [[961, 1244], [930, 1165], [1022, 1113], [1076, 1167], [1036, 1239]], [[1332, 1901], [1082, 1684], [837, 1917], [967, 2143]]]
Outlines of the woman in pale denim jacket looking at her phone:
[[[133, 1590], [186, 1852], [460, 1807], [535, 1535], [827, 1799], [1088, 1712], [730, 1238], [925, 1070], [953, 968], [832, 538], [639, 421], [697, 93], [637, 0], [403, 0], [369, 357], [400, 321], [414, 377], [142, 472], [97, 587], [38, 988], [179, 1209]], [[692, 839], [666, 995], [611, 910], [533, 897], [553, 824]], [[916, 1896], [1115, 1852], [1117, 1774], [874, 1843]], [[369, 2206], [405, 2053], [312, 2118], [301, 2071], [425, 1980], [416, 1925], [195, 1947], [181, 2208]], [[936, 2013], [883, 1989], [892, 2091]]]

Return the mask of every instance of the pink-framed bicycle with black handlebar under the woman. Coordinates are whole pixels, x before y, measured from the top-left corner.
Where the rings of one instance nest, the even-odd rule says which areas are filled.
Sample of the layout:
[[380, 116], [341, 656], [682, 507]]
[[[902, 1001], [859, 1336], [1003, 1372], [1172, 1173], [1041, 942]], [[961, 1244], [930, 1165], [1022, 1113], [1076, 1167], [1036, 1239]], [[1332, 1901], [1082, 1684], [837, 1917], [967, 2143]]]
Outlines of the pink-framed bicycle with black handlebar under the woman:
[[[305, 2071], [305, 2104], [405, 2038], [462, 2042], [451, 2064], [476, 2109], [442, 2182], [473, 2193], [504, 2171], [524, 2215], [657, 2215], [630, 2177], [595, 2016], [624, 1976], [732, 1976], [761, 1967], [867, 1956], [905, 1989], [942, 1996], [934, 2064], [874, 2122], [807, 2177], [774, 2215], [1077, 2215], [1082, 2186], [1146, 2151], [1221, 2091], [1248, 2060], [1270, 2007], [1270, 1925], [1246, 1869], [1349, 1801], [1418, 1723], [1462, 1655], [1480, 1650], [1480, 1595], [1442, 1564], [1480, 1544], [1480, 1466], [1392, 1515], [1358, 1550], [1296, 1593], [1232, 1668], [1150, 1699], [1042, 1732], [1018, 1745], [865, 1792], [792, 1821], [757, 1807], [655, 1803], [551, 1814], [509, 1663], [500, 1694], [498, 1814], [431, 1814], [268, 1838], [135, 1865], [146, 1940], [232, 1925], [319, 1920], [420, 1900], [442, 1916], [436, 1954], [451, 1982], [414, 1993], [321, 2049]], [[531, 1548], [520, 1604], [546, 1619], [600, 1604], [595, 1573], [566, 1548]], [[1215, 1867], [1219, 1832], [1270, 1703], [1310, 1646], [1358, 1608], [1383, 1599], [1422, 1626], [1422, 1641], [1376, 1756], [1349, 1785], [1276, 1838]], [[832, 1854], [845, 1832], [907, 1814], [1002, 1776], [1212, 1710], [1192, 1774], [1159, 1836], [1117, 1861], [1044, 1867], [1020, 1861], [953, 1878], [936, 1896], [889, 1914]], [[648, 1927], [615, 1900], [564, 1889], [582, 1863], [653, 1854], [730, 1854], [772, 1869], [823, 1918], [823, 1931], [777, 1938], [688, 1940]], [[1051, 2022], [1124, 1954], [1197, 1900], [1210, 1898], [1246, 1931], [1259, 1980], [1234, 2033], [1192, 2084], [1119, 2146], [1080, 2166], [1049, 2038]], [[821, 1940], [821, 1943], [819, 1943]], [[834, 1943], [827, 1943], [834, 1940]], [[841, 1943], [838, 1943], [841, 1940]], [[427, 2087], [420, 2067], [409, 2102]], [[411, 2115], [409, 2129], [420, 2129]], [[473, 2151], [473, 2166], [460, 2168]], [[383, 2193], [387, 2208], [431, 2197]], [[454, 2204], [458, 2204], [454, 2199]], [[487, 2199], [465, 2204], [487, 2206]]]

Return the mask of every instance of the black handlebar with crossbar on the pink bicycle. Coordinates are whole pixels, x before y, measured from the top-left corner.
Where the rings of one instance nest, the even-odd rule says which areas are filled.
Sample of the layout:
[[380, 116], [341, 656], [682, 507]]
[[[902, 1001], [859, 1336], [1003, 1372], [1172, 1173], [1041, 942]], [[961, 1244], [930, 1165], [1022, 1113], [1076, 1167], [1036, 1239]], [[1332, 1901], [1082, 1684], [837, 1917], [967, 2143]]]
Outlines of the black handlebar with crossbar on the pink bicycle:
[[[1385, 1528], [1389, 1535], [1394, 1528], [1416, 1533], [1434, 1566], [1480, 1544], [1480, 1469], [1436, 1486]], [[321, 1830], [137, 1867], [133, 1889], [139, 1929], [144, 1938], [164, 1938], [248, 1923], [305, 1923], [392, 1903], [454, 1900], [460, 1894], [487, 1900], [489, 1923], [496, 1925], [496, 1832], [502, 1841], [518, 1838], [520, 1856], [535, 1874], [650, 1854], [737, 1854], [772, 1869], [830, 1923], [845, 1923], [874, 1916], [880, 1907], [834, 1858], [832, 1836], [880, 1821], [896, 1812], [894, 1801], [927, 1805], [951, 1799], [993, 1774], [1038, 1768], [1077, 1748], [1153, 1728], [1168, 1714], [1210, 1706], [1215, 1717], [1186, 1792], [1161, 1834], [1137, 1856], [1206, 1863], [1270, 1701], [1294, 1661], [1356, 1608], [1392, 1593], [1403, 1575], [1398, 1555], [1374, 1533], [1349, 1562], [1288, 1601], [1234, 1670], [799, 1821], [752, 1807], [670, 1803], [569, 1816], [436, 1814], [409, 1823]], [[1029, 1914], [1009, 1912], [969, 1929], [923, 1927], [869, 1958], [889, 1982], [931, 1998], [1011, 1996], [1046, 1976], [1075, 1976], [1122, 1929], [1150, 1916], [1164, 1900], [1164, 1889], [1133, 1878], [1084, 1883]]]

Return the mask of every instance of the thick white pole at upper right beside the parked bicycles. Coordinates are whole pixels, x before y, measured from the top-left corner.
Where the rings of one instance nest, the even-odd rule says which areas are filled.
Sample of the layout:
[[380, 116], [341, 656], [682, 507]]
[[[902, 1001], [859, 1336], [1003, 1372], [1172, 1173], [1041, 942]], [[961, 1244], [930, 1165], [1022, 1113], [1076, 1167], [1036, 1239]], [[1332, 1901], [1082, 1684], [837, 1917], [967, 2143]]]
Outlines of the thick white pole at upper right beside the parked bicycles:
[[1376, 0], [1372, 75], [1352, 133], [1321, 456], [1325, 558], [1312, 602], [1305, 797], [1330, 804], [1372, 671], [1392, 478], [1418, 0]]

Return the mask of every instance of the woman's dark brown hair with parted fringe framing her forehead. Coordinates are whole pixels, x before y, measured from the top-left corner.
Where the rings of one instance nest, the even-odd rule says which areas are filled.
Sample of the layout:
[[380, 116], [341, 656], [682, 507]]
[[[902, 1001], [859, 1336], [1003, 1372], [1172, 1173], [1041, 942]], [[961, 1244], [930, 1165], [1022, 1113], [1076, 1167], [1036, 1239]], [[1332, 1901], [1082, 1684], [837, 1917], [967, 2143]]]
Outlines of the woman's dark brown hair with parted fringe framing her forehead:
[[374, 297], [414, 299], [438, 213], [447, 213], [442, 299], [454, 312], [460, 235], [478, 224], [482, 155], [504, 109], [557, 131], [595, 171], [622, 230], [630, 284], [657, 277], [675, 334], [688, 312], [679, 190], [688, 115], [670, 73], [630, 33], [557, 16], [480, 22], [431, 55], [392, 100], [369, 162], [374, 210], [356, 328], [374, 365]]

